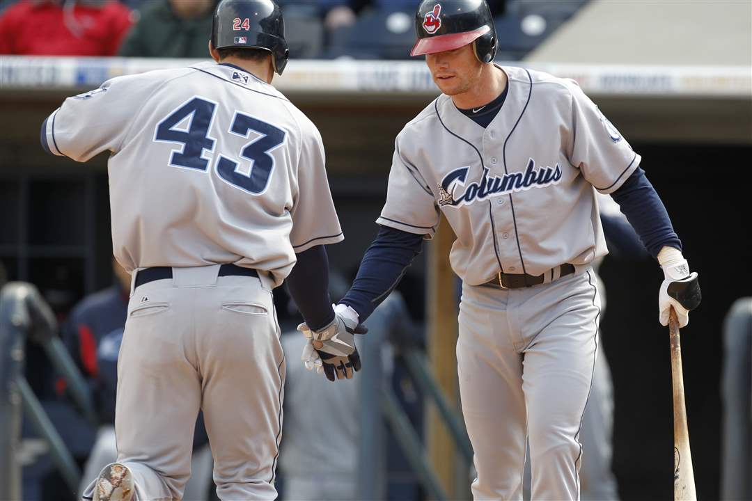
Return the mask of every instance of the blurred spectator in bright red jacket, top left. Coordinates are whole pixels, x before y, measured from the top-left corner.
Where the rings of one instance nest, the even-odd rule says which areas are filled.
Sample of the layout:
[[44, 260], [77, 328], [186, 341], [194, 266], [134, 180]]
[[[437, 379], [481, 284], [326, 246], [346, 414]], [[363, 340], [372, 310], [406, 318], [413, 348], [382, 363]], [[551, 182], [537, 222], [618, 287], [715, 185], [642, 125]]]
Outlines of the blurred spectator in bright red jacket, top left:
[[132, 20], [115, 0], [21, 0], [0, 16], [0, 54], [114, 56]]

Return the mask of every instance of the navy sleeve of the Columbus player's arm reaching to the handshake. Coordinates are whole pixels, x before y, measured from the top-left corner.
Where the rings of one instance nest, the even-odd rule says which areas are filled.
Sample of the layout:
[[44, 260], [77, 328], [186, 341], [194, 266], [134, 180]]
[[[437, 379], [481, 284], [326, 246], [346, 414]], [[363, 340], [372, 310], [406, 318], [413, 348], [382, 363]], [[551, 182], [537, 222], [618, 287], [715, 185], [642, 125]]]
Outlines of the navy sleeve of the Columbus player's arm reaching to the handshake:
[[364, 322], [397, 286], [423, 248], [423, 235], [381, 226], [365, 251], [355, 282], [339, 301], [352, 307]]

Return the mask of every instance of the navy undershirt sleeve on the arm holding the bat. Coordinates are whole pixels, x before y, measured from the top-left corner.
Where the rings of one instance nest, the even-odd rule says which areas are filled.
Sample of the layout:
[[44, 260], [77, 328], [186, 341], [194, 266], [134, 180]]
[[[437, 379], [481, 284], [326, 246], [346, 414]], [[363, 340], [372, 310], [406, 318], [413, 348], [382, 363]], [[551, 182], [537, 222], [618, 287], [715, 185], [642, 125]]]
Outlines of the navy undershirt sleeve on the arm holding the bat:
[[674, 231], [669, 213], [663, 206], [656, 190], [645, 177], [645, 171], [637, 168], [611, 197], [619, 204], [621, 212], [653, 258], [663, 246], [681, 251], [681, 240]]

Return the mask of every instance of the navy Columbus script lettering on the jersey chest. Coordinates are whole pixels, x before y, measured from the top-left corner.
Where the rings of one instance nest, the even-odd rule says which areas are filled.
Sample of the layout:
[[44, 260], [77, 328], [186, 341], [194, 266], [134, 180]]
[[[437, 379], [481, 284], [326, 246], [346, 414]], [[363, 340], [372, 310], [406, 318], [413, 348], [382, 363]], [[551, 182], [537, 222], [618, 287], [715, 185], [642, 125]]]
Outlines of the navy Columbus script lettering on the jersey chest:
[[488, 169], [483, 170], [480, 183], [470, 183], [462, 194], [456, 194], [459, 186], [464, 187], [469, 167], [454, 169], [444, 177], [438, 186], [438, 204], [441, 207], [461, 207], [476, 201], [484, 201], [514, 192], [523, 192], [531, 188], [543, 188], [559, 183], [562, 170], [559, 164], [554, 167], [535, 168], [535, 160], [530, 158], [525, 172], [512, 172], [503, 176], [489, 176]]

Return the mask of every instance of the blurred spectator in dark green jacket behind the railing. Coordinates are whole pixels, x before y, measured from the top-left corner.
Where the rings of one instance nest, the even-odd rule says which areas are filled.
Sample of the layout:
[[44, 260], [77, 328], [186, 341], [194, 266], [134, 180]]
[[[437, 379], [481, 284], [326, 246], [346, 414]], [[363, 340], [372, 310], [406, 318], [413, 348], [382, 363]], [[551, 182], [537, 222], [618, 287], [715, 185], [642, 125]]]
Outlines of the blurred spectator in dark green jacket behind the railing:
[[120, 56], [206, 58], [216, 0], [144, 2]]

